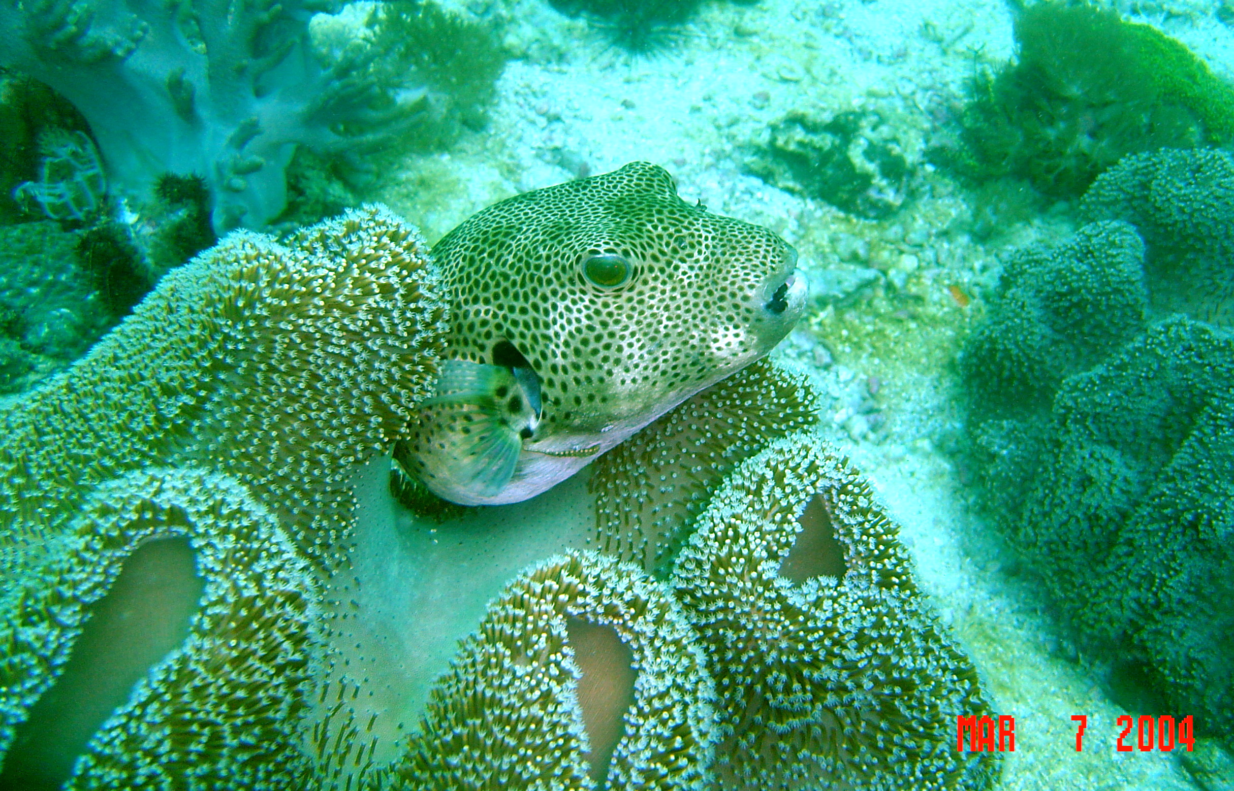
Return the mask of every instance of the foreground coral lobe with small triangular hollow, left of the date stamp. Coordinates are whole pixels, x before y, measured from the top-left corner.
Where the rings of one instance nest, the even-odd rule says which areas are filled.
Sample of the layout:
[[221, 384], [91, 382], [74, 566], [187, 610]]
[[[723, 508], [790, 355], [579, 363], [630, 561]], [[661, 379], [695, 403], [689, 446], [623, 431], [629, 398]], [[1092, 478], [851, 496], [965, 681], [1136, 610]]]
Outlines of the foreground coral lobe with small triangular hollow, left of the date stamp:
[[733, 470], [671, 578], [716, 680], [724, 789], [986, 789], [956, 753], [988, 713], [972, 663], [929, 612], [896, 527], [813, 432]]

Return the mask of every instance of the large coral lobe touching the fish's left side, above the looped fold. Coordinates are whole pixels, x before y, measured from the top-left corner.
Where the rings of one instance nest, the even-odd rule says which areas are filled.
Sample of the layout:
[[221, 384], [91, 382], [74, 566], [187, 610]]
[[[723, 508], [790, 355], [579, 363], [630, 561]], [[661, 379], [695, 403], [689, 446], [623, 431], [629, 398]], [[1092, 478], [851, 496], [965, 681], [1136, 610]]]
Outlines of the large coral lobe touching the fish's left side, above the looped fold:
[[35, 552], [90, 487], [152, 464], [233, 475], [310, 552], [334, 544], [350, 470], [432, 386], [442, 312], [423, 243], [383, 209], [286, 244], [232, 234], [0, 416], [4, 544]]

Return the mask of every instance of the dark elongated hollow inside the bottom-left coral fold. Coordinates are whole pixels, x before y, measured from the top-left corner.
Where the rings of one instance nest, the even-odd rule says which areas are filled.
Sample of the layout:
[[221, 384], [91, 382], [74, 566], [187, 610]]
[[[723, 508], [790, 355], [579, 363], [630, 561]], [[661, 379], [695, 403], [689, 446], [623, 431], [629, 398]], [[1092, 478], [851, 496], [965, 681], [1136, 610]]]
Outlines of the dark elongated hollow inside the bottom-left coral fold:
[[60, 787], [133, 685], [188, 637], [204, 587], [188, 539], [135, 550], [107, 595], [89, 607], [59, 679], [17, 726], [0, 791]]

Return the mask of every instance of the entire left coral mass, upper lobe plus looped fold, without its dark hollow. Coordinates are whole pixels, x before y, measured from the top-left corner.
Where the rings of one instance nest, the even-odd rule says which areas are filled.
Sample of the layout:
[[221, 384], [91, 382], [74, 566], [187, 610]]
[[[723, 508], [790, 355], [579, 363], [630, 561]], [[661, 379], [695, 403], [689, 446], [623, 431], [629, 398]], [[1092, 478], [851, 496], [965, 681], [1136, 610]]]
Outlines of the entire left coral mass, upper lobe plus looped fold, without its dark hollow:
[[0, 568], [16, 581], [0, 596], [0, 750], [126, 558], [185, 537], [206, 579], [190, 636], [90, 738], [70, 787], [291, 789], [328, 771], [308, 701], [333, 674], [312, 612], [347, 564], [352, 476], [431, 391], [442, 316], [427, 248], [384, 209], [284, 244], [234, 233], [0, 413]]

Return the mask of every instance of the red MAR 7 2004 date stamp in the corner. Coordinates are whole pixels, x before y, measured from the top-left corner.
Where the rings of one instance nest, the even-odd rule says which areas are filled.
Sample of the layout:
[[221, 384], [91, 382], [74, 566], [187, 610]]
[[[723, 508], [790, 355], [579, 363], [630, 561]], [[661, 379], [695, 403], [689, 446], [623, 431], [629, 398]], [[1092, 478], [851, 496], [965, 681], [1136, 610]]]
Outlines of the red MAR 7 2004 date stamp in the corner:
[[[1083, 732], [1088, 727], [1087, 714], [1075, 714], [1071, 721], [1076, 723], [1076, 752], [1083, 750]], [[1165, 714], [1150, 717], [1141, 714], [1132, 717], [1123, 714], [1118, 718], [1118, 727], [1122, 728], [1114, 740], [1114, 749], [1119, 753], [1139, 750], [1148, 753], [1160, 750], [1169, 753], [1177, 748], [1187, 748], [1192, 752], [1196, 747], [1193, 723], [1191, 714], [1176, 721]], [[956, 717], [955, 718], [955, 750], [965, 752], [965, 734], [967, 734], [967, 752], [1016, 752], [1016, 718], [1007, 714], [993, 717]]]

